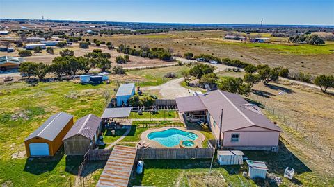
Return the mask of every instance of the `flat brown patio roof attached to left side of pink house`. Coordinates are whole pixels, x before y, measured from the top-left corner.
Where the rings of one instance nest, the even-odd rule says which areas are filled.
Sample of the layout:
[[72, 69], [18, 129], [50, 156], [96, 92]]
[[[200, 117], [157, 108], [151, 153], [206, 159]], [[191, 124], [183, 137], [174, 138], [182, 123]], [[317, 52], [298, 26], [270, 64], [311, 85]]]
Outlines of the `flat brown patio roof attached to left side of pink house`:
[[175, 101], [179, 112], [207, 110], [198, 96], [175, 98]]

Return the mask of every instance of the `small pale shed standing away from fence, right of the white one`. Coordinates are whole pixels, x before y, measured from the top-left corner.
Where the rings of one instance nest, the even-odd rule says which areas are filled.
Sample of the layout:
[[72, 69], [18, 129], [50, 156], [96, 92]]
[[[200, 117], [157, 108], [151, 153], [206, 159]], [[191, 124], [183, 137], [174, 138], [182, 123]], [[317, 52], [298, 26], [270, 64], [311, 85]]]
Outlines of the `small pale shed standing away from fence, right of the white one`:
[[248, 164], [248, 175], [250, 179], [266, 178], [268, 168], [263, 161], [246, 160], [246, 162]]

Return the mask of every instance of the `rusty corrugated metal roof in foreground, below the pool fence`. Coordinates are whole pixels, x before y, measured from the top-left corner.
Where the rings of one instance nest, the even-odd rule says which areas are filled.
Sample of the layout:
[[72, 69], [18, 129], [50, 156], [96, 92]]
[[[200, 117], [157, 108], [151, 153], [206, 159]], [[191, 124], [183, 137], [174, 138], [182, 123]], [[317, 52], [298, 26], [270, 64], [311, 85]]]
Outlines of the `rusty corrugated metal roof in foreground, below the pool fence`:
[[128, 186], [136, 148], [115, 145], [96, 186]]

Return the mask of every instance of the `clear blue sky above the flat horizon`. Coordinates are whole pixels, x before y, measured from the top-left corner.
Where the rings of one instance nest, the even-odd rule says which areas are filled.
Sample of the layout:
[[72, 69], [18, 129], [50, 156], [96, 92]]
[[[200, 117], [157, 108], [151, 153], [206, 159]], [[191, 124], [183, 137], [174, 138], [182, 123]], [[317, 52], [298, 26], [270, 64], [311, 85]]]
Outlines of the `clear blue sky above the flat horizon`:
[[0, 18], [334, 25], [334, 0], [0, 0]]

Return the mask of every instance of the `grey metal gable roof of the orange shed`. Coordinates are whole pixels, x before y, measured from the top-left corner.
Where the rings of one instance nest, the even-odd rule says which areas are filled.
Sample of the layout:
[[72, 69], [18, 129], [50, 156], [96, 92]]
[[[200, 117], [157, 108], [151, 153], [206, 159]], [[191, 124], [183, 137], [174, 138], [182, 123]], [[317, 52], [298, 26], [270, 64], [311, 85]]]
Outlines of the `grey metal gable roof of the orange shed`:
[[47, 139], [49, 141], [54, 141], [59, 132], [71, 121], [72, 115], [65, 112], [59, 112], [54, 114], [45, 121], [37, 130], [35, 130], [25, 141], [33, 139], [35, 137], [40, 137], [42, 139]]

